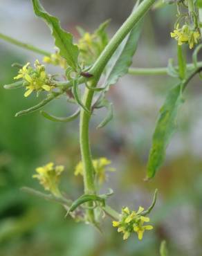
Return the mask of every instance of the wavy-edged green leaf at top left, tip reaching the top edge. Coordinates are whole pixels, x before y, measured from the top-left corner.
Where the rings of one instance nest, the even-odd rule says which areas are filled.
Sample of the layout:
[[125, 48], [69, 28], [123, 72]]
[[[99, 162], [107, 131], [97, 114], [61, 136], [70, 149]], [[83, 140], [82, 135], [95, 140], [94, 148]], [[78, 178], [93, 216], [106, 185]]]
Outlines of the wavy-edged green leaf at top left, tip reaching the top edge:
[[74, 71], [77, 71], [77, 57], [79, 50], [77, 46], [73, 44], [73, 36], [71, 33], [67, 33], [61, 28], [59, 20], [56, 17], [49, 15], [48, 12], [44, 10], [39, 0], [32, 1], [35, 15], [44, 19], [50, 27], [52, 35], [55, 38], [55, 46], [59, 48], [59, 55], [64, 57], [68, 65], [71, 66]]

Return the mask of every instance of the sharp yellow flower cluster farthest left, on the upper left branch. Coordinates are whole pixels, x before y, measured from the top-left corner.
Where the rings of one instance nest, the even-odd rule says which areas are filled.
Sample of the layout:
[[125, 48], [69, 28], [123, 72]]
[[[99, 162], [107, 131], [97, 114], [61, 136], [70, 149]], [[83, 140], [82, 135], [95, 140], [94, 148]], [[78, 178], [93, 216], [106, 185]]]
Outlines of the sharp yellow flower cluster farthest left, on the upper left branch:
[[35, 61], [35, 69], [27, 63], [23, 66], [16, 77], [15, 80], [23, 79], [27, 91], [24, 93], [25, 97], [28, 97], [33, 91], [50, 91], [54, 88], [50, 84], [50, 77], [46, 74], [44, 65], [39, 64], [39, 61]]

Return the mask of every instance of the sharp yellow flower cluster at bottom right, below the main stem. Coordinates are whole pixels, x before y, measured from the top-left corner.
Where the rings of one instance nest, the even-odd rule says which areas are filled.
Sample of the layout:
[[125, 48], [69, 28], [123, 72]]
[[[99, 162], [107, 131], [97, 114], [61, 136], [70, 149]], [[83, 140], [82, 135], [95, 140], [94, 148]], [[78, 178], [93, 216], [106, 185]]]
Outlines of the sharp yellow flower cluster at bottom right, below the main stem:
[[122, 214], [120, 215], [120, 221], [113, 221], [113, 226], [118, 228], [118, 232], [122, 232], [123, 239], [129, 238], [131, 232], [137, 232], [138, 239], [143, 239], [143, 233], [145, 230], [152, 230], [152, 225], [143, 225], [145, 222], [149, 222], [149, 217], [142, 216], [144, 208], [139, 207], [138, 212], [131, 211], [129, 208], [122, 208]]

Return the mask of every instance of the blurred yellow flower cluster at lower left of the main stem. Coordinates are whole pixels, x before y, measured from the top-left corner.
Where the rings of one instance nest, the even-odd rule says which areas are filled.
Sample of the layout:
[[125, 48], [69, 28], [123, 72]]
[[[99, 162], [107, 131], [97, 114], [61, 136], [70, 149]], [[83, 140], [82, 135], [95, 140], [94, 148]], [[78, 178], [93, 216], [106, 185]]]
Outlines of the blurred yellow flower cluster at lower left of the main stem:
[[33, 175], [33, 178], [39, 180], [39, 183], [45, 190], [50, 191], [55, 196], [60, 196], [58, 189], [59, 177], [64, 171], [63, 165], [54, 166], [53, 163], [48, 163], [42, 167], [37, 167], [37, 174]]

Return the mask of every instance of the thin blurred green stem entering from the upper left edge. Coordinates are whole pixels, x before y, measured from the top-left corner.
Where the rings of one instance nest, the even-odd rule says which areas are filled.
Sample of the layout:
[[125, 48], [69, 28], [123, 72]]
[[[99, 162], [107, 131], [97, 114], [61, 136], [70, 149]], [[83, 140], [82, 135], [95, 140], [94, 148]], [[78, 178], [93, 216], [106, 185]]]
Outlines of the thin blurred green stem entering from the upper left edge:
[[38, 53], [38, 54], [46, 55], [46, 56], [51, 55], [51, 53], [48, 53], [47, 51], [41, 50], [41, 49], [39, 49], [35, 46], [32, 46], [30, 44], [24, 44], [24, 43], [18, 41], [17, 39], [8, 37], [8, 35], [3, 35], [2, 33], [0, 33], [0, 39], [3, 39], [4, 41], [9, 42], [10, 44], [15, 44], [16, 46], [19, 46], [21, 48], [25, 48], [26, 50], [33, 51], [34, 53]]

